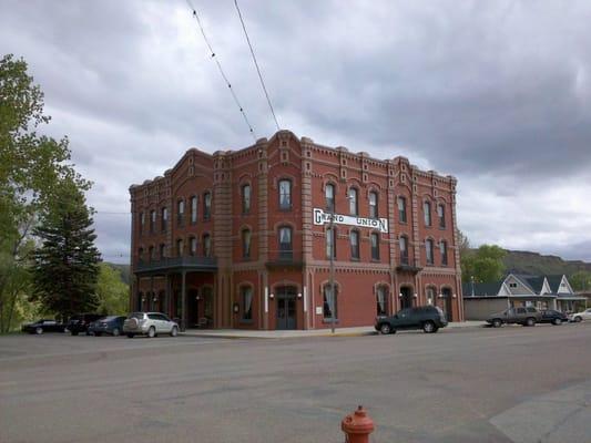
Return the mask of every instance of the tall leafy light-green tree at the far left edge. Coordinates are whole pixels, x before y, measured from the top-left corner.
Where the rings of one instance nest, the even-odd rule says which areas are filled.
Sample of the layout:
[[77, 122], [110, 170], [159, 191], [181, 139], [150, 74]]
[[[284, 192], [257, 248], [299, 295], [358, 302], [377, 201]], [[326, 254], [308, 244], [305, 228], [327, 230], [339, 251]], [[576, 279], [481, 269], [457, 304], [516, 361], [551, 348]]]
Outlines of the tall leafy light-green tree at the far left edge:
[[[0, 60], [0, 330], [16, 320], [16, 307], [28, 291], [32, 229], [55, 206], [65, 182], [85, 190], [90, 183], [73, 169], [68, 138], [38, 135], [51, 120], [43, 114], [43, 93], [27, 73], [24, 60]], [[30, 311], [24, 309], [24, 311]]]

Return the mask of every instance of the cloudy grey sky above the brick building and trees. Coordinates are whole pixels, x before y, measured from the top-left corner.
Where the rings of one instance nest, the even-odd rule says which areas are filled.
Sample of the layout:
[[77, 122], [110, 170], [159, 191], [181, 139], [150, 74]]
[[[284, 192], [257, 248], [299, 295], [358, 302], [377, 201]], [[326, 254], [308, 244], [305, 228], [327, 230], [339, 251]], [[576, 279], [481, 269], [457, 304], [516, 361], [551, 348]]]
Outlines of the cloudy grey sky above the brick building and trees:
[[[275, 125], [233, 0], [191, 0], [257, 137]], [[472, 245], [591, 260], [591, 3], [247, 1], [283, 128], [459, 179]], [[252, 137], [185, 0], [0, 0], [68, 135], [105, 260], [129, 260], [132, 183]]]

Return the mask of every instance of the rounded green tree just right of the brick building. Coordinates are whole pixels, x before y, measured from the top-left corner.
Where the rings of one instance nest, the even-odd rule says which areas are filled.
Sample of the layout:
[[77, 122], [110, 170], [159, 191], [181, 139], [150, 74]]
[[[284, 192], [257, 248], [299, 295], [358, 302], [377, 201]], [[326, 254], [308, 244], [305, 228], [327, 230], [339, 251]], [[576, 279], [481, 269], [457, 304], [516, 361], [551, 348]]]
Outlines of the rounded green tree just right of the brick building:
[[478, 249], [467, 250], [461, 257], [461, 279], [470, 281], [495, 281], [505, 275], [505, 249], [495, 245], [482, 245]]

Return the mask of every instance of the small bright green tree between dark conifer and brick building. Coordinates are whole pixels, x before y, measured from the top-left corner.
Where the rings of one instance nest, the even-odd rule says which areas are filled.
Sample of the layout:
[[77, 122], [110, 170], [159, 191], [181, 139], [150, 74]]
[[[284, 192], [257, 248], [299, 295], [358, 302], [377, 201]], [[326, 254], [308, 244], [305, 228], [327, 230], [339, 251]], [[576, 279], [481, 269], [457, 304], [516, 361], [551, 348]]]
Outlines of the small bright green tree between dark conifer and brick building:
[[121, 271], [105, 262], [100, 264], [96, 295], [99, 297], [99, 312], [104, 315], [124, 315], [128, 312], [130, 288], [122, 281]]

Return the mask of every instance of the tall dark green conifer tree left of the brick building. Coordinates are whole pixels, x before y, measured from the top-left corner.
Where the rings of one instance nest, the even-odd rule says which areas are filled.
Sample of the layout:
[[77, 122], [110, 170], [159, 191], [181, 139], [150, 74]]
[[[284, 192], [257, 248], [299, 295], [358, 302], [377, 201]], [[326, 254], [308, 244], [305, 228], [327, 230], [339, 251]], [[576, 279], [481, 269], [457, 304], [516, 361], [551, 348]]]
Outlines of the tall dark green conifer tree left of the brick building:
[[60, 196], [60, 205], [43, 216], [34, 231], [42, 246], [34, 253], [31, 300], [67, 319], [99, 306], [100, 255], [82, 192], [65, 182]]

